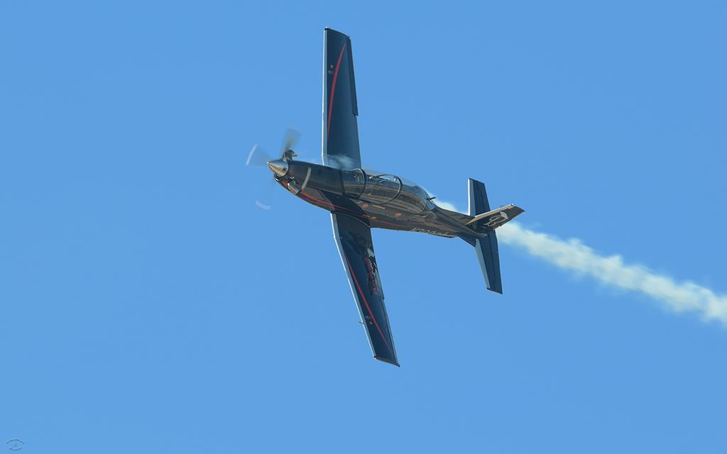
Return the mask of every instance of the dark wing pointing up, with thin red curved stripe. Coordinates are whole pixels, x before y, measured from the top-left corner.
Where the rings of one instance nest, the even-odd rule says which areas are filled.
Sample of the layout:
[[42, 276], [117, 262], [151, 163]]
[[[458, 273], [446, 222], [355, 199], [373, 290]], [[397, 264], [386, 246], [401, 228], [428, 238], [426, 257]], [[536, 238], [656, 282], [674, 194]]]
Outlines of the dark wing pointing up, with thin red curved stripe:
[[323, 163], [357, 169], [361, 167], [361, 153], [351, 39], [326, 28], [323, 42]]

